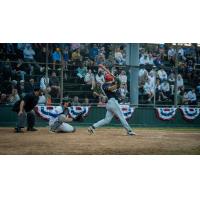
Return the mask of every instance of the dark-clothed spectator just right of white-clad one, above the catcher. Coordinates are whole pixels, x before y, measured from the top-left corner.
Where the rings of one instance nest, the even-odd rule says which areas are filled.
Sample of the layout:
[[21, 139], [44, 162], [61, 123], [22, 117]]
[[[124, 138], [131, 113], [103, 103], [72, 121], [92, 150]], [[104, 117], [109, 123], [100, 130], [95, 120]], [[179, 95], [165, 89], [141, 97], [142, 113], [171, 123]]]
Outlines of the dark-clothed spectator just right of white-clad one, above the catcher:
[[51, 96], [55, 98], [60, 97], [60, 84], [59, 79], [56, 76], [56, 72], [51, 73], [51, 77], [49, 79], [49, 86], [51, 87]]

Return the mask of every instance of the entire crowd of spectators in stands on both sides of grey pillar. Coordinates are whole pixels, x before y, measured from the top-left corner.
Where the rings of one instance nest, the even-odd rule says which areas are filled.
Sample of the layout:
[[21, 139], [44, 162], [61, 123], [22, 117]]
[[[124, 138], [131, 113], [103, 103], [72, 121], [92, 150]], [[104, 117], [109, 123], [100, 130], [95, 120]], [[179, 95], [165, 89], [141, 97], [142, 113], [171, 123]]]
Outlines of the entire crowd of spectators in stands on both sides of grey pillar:
[[[140, 45], [139, 94], [146, 103], [156, 98], [158, 102], [174, 99], [177, 85], [178, 104], [196, 105], [200, 95], [199, 52], [197, 47], [179, 47], [159, 44], [153, 47]], [[48, 61], [48, 66], [46, 62]], [[0, 44], [0, 104], [13, 105], [26, 93], [40, 85], [43, 95], [40, 104], [56, 103], [60, 98], [60, 71], [64, 80], [77, 78], [88, 86], [94, 102], [104, 106], [106, 97], [101, 86], [106, 73], [105, 65], [121, 81], [121, 102], [129, 102], [128, 68], [124, 67], [124, 45], [113, 44]], [[178, 66], [176, 70], [175, 66]], [[48, 76], [46, 74], [48, 67]], [[177, 78], [176, 78], [177, 74]], [[89, 105], [91, 99], [70, 96], [73, 105]]]

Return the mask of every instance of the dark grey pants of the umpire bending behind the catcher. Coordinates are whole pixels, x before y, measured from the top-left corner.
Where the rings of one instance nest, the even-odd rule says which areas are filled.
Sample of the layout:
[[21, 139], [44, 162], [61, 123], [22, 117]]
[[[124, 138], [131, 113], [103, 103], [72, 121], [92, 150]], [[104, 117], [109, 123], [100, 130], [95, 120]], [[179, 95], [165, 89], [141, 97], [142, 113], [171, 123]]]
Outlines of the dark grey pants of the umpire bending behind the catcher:
[[33, 128], [35, 125], [35, 112], [32, 110], [30, 112], [23, 112], [20, 116], [17, 118], [17, 127], [18, 128], [23, 128], [26, 126], [27, 122], [27, 127], [28, 128]]

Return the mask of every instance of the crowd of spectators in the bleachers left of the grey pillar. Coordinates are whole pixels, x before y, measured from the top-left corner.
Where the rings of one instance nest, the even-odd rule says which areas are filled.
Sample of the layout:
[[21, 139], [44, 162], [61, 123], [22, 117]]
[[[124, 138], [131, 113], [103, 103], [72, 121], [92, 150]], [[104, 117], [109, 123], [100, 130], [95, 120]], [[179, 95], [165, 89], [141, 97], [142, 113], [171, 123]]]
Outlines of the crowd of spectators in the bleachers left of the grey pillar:
[[[46, 62], [48, 61], [48, 75]], [[94, 99], [100, 105], [105, 98], [97, 94], [98, 87], [105, 82], [104, 71], [98, 66], [106, 65], [113, 72], [118, 72], [114, 64], [125, 62], [124, 46], [113, 52], [112, 44], [0, 44], [0, 104], [13, 105], [26, 93], [32, 92], [35, 85], [40, 85], [43, 95], [40, 104], [50, 104], [60, 98], [60, 71], [63, 67], [64, 80], [71, 75], [78, 78], [78, 83], [90, 87]], [[126, 76], [125, 72], [120, 75]], [[121, 86], [122, 99], [126, 99], [127, 79], [123, 78]], [[70, 96], [74, 105], [79, 105], [77, 96]], [[54, 101], [55, 100], [55, 101]], [[85, 97], [83, 104], [89, 104]]]

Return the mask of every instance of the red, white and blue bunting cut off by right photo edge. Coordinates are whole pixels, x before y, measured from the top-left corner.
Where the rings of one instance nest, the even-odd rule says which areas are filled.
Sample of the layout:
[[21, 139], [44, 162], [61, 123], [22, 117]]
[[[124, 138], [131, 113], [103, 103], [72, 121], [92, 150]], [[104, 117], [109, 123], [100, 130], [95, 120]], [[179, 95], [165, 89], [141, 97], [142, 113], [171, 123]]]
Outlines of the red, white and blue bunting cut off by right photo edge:
[[200, 108], [191, 108], [187, 106], [180, 107], [183, 118], [186, 120], [194, 120], [200, 114]]

